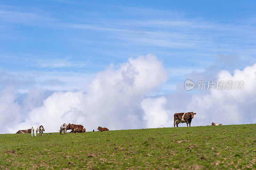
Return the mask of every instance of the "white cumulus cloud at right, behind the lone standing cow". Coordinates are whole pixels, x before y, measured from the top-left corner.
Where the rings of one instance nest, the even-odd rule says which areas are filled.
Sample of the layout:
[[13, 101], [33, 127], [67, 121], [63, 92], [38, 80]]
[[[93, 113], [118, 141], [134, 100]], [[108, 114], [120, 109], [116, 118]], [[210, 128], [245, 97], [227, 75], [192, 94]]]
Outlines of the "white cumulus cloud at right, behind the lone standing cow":
[[255, 123], [256, 64], [243, 70], [236, 69], [233, 75], [229, 71], [221, 70], [216, 76], [216, 81], [244, 81], [244, 87], [242, 90], [213, 89], [208, 93], [188, 96], [184, 95], [185, 92], [183, 96], [177, 93], [172, 95], [172, 98], [180, 100], [181, 103], [174, 102], [177, 106], [172, 104], [171, 109], [196, 112], [193, 124], [197, 126], [210, 125], [211, 122], [226, 125]]

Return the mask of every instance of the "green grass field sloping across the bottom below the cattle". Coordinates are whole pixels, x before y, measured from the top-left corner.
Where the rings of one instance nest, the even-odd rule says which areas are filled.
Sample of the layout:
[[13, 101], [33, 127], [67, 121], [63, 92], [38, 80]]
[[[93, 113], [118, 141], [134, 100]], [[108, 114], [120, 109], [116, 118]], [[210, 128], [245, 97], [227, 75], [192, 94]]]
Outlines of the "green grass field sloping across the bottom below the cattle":
[[256, 124], [0, 135], [0, 169], [256, 169]]

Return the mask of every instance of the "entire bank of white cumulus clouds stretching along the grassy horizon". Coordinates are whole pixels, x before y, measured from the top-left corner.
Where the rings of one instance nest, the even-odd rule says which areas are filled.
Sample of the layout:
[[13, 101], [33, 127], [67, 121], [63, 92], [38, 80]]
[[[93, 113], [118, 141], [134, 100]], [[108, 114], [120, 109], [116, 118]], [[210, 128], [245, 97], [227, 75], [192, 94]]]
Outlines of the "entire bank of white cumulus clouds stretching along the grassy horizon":
[[[193, 73], [191, 73], [193, 74]], [[204, 73], [200, 73], [202, 75]], [[207, 77], [207, 76], [205, 76]], [[167, 81], [163, 63], [154, 55], [130, 58], [98, 72], [78, 91], [48, 93], [31, 88], [22, 102], [13, 91], [0, 93], [0, 133], [15, 133], [32, 125], [57, 132], [62, 123], [82, 124], [86, 131], [98, 126], [110, 130], [173, 127], [176, 112], [196, 112], [192, 126], [255, 123], [256, 64], [233, 72], [220, 70], [215, 79], [244, 81], [243, 90], [206, 90], [148, 97]], [[181, 126], [186, 126], [182, 124]]]

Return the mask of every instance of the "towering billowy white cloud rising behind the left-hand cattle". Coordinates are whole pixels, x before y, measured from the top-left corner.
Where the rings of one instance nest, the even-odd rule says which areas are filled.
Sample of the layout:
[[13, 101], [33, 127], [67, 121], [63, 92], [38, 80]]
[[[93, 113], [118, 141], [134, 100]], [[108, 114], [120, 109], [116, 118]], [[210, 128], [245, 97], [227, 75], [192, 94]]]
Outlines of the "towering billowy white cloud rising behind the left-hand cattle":
[[98, 126], [112, 130], [143, 128], [145, 120], [140, 104], [145, 95], [166, 80], [167, 72], [156, 56], [130, 58], [97, 73], [87, 84], [87, 92], [54, 92], [42, 105], [31, 109], [24, 121], [10, 132], [41, 124], [46, 132], [52, 132], [69, 122], [82, 124], [87, 131]]

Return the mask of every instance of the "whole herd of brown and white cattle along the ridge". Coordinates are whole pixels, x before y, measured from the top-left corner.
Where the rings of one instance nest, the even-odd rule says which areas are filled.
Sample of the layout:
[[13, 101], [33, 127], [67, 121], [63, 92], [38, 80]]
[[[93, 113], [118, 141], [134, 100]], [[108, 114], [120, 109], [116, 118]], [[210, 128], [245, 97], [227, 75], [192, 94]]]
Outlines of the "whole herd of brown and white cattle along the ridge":
[[[187, 112], [187, 113], [175, 113], [174, 114], [174, 127], [175, 125], [178, 127], [179, 123], [187, 123], [187, 127], [189, 124], [191, 124], [192, 119], [194, 118], [194, 115], [196, 113], [193, 112]], [[222, 126], [222, 124], [215, 124], [212, 122], [212, 126]], [[67, 133], [67, 130], [71, 130], [69, 133], [84, 133], [85, 132], [85, 128], [82, 125], [75, 125], [75, 124], [68, 124], [66, 125], [66, 123], [64, 123], [63, 125], [60, 126], [60, 135], [62, 132], [64, 132], [64, 135]], [[98, 127], [99, 131], [108, 131], [108, 128], [101, 128], [100, 126]], [[39, 126], [39, 135], [42, 136], [43, 135], [43, 131], [44, 131], [44, 127], [41, 125]], [[38, 132], [38, 128], [35, 126], [32, 126], [31, 129], [26, 129], [26, 130], [19, 130], [16, 133], [31, 133], [31, 136], [33, 136], [33, 133], [36, 136], [36, 133]], [[94, 132], [94, 129], [93, 129]]]

